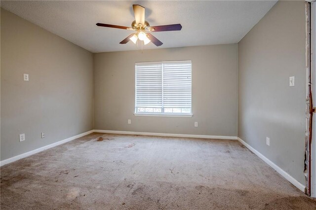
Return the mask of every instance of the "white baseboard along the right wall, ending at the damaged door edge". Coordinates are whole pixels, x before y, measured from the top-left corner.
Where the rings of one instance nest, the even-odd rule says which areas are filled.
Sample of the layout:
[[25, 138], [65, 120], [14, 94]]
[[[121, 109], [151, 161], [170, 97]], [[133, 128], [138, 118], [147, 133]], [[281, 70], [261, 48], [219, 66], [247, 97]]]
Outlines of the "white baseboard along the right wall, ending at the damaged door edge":
[[298, 180], [293, 178], [291, 175], [287, 174], [285, 171], [283, 171], [280, 167], [278, 167], [274, 162], [269, 160], [267, 157], [265, 157], [263, 154], [258, 152], [256, 149], [254, 149], [252, 146], [247, 144], [244, 140], [237, 138], [240, 143], [242, 143], [245, 147], [247, 147], [250, 151], [252, 151], [254, 154], [256, 154], [259, 158], [261, 158], [264, 162], [266, 162], [271, 168], [276, 170], [277, 173], [282, 175], [284, 178], [286, 178], [289, 182], [291, 182], [294, 186], [299, 188], [301, 191], [305, 192], [305, 185], [301, 184]]

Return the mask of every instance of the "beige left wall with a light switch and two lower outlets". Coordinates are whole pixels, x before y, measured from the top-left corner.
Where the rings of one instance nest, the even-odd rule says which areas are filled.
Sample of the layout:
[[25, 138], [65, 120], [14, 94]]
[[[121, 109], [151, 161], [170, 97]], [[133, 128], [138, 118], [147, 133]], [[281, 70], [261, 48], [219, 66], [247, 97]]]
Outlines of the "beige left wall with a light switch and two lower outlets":
[[92, 127], [92, 53], [1, 8], [0, 159]]

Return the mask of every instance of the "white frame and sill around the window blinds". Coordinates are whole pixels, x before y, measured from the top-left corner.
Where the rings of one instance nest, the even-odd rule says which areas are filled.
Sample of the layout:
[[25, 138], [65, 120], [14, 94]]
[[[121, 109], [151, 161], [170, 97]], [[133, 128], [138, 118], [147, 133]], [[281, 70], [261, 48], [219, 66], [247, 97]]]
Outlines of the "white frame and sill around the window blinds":
[[[162, 64], [162, 68], [163, 68], [163, 63], [171, 63], [171, 62], [190, 62], [191, 63], [191, 112], [190, 113], [173, 113], [173, 112], [164, 112], [164, 107], [161, 107], [161, 112], [137, 112], [137, 107], [136, 107], [136, 103], [137, 103], [137, 94], [136, 94], [136, 65], [137, 64], [144, 64], [144, 63], [161, 63]], [[134, 115], [135, 116], [155, 116], [155, 117], [192, 117], [193, 116], [193, 103], [192, 103], [192, 60], [172, 60], [172, 61], [154, 61], [154, 62], [135, 62], [135, 66], [134, 66], [134, 73], [135, 73], [135, 90], [134, 90], [134, 94], [135, 94], [135, 102], [134, 102]], [[163, 70], [161, 72], [161, 75], [163, 76]], [[162, 78], [162, 84], [163, 84], [163, 78]], [[162, 89], [163, 91], [163, 89]], [[163, 97], [163, 95], [162, 95]], [[163, 98], [162, 98], [163, 99]]]

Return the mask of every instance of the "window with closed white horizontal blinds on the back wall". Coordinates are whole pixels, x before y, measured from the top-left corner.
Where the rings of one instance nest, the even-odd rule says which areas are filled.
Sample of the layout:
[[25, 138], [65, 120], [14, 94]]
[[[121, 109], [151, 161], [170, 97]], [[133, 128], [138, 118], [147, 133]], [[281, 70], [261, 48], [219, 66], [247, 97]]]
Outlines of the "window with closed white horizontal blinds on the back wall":
[[135, 64], [135, 114], [192, 116], [191, 61]]

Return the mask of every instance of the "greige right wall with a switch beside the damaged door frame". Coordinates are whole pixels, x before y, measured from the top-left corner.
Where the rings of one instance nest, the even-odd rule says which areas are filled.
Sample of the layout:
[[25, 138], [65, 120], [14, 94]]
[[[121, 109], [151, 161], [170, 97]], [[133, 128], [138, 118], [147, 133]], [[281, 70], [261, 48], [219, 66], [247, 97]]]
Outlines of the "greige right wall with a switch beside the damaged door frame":
[[305, 185], [305, 2], [278, 1], [238, 49], [238, 137]]

